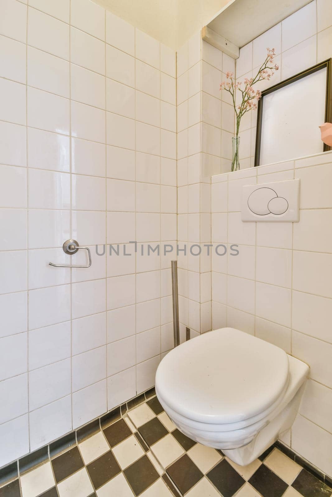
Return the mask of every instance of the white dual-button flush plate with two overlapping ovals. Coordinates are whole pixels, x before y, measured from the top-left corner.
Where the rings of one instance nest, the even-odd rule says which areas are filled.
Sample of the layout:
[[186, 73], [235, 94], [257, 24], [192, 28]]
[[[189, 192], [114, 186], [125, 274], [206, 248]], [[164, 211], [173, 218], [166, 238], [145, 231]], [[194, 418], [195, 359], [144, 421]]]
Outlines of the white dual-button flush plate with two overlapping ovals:
[[242, 186], [242, 221], [299, 222], [300, 179]]

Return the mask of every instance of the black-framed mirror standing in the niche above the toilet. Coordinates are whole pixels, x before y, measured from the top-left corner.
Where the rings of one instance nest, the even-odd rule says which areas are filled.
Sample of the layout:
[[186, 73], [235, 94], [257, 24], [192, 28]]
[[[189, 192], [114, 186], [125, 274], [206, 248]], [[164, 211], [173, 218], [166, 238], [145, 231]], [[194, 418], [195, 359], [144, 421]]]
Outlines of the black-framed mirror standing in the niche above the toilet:
[[332, 121], [331, 60], [262, 91], [255, 166], [331, 150], [321, 141], [318, 128]]

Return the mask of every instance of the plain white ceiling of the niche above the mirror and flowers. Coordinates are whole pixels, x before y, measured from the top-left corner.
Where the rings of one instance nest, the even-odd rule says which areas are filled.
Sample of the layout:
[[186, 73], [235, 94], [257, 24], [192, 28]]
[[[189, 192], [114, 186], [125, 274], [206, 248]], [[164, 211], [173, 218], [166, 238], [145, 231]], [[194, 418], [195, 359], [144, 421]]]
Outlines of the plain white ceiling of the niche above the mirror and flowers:
[[312, 0], [231, 0], [207, 26], [238, 47]]

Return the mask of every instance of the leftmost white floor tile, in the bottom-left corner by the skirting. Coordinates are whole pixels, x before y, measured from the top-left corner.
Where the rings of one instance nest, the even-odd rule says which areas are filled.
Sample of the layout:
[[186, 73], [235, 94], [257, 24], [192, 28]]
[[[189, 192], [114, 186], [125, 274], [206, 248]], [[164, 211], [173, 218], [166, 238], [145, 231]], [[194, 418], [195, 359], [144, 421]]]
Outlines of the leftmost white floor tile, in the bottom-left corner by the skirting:
[[22, 497], [39, 496], [39, 494], [46, 492], [46, 490], [54, 487], [55, 485], [50, 462], [47, 462], [33, 471], [30, 471], [26, 475], [23, 475], [20, 480]]

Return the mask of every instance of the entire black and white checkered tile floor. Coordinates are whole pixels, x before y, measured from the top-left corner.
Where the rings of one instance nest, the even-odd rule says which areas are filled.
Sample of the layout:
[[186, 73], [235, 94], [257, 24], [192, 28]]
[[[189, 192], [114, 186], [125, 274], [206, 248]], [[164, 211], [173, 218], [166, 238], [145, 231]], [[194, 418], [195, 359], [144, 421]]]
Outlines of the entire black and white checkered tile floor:
[[0, 488], [0, 497], [331, 497], [277, 448], [242, 467], [183, 435], [156, 397]]

